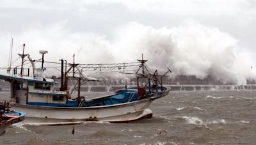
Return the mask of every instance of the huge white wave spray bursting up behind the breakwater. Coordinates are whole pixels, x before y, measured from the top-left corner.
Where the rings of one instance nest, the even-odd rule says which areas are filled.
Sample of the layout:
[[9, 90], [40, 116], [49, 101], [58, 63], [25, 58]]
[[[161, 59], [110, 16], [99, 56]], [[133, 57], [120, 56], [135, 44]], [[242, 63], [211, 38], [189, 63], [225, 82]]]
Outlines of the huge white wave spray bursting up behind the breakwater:
[[[22, 52], [22, 43], [33, 59], [40, 59], [39, 50], [48, 50], [45, 60], [58, 62], [114, 63], [135, 62], [143, 53], [152, 70], [165, 71], [170, 67], [177, 75], [194, 75], [204, 79], [211, 75], [222, 83], [246, 84], [255, 79], [252, 69], [255, 53], [243, 51], [239, 40], [216, 27], [188, 20], [179, 27], [152, 27], [131, 22], [113, 31], [113, 38], [93, 32], [71, 32], [60, 22], [49, 27], [35, 25], [19, 34], [13, 34], [13, 59]], [[8, 50], [8, 34], [0, 33], [1, 48]], [[1, 61], [8, 60], [8, 51], [1, 54]], [[18, 61], [20, 63], [20, 60]], [[17, 64], [19, 64], [17, 63]], [[4, 64], [2, 64], [3, 66]], [[48, 70], [48, 73], [59, 73]]]

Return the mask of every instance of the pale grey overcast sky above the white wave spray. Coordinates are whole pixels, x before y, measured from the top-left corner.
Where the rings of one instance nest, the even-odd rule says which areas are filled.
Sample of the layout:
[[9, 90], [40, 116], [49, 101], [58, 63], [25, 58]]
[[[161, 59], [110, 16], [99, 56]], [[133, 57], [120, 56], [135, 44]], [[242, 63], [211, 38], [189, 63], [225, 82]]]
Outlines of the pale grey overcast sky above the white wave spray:
[[253, 0], [1, 0], [0, 27], [2, 34], [12, 33], [15, 38], [31, 28], [47, 29], [61, 23], [70, 32], [93, 32], [111, 39], [113, 29], [129, 22], [175, 27], [185, 20], [195, 20], [218, 27], [239, 39], [242, 46], [253, 49], [255, 8]]

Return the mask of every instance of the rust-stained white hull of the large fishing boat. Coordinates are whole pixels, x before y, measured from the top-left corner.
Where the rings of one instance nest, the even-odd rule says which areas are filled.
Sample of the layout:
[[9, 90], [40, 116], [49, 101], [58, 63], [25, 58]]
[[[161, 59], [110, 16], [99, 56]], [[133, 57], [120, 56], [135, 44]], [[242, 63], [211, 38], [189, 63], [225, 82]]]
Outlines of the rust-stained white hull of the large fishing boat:
[[127, 122], [145, 116], [152, 117], [148, 109], [154, 99], [143, 99], [135, 102], [94, 107], [48, 107], [12, 104], [15, 111], [26, 112], [29, 125], [59, 125], [83, 123], [85, 121]]

